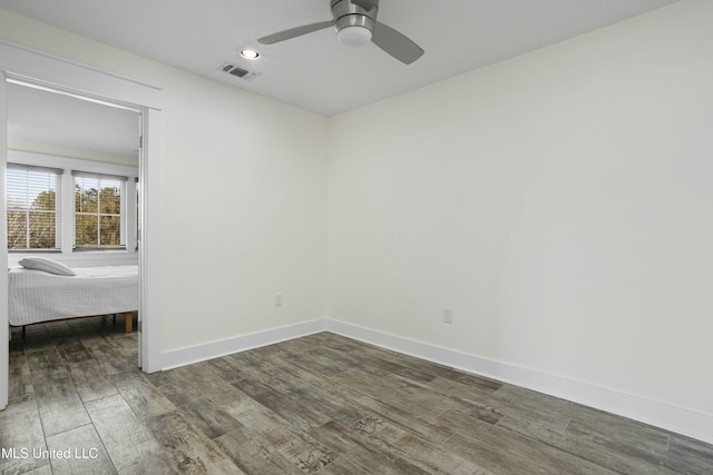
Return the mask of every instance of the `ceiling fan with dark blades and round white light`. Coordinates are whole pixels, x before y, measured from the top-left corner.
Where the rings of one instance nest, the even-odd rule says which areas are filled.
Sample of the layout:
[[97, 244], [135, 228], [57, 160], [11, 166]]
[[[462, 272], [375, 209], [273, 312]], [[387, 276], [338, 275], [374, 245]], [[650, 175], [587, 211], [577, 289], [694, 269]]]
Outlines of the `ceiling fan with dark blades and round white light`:
[[369, 41], [398, 59], [410, 65], [423, 55], [423, 50], [411, 39], [393, 28], [377, 21], [379, 0], [330, 0], [332, 20], [303, 24], [257, 39], [262, 44], [301, 37], [302, 34], [334, 27], [336, 39], [345, 46], [359, 47]]

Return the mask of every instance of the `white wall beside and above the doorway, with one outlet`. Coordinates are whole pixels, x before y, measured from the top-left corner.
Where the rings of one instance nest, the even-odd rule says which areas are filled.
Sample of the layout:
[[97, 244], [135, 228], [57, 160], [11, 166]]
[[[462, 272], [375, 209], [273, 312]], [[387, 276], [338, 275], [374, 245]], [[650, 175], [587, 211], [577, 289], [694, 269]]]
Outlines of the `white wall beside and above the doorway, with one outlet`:
[[6, 10], [0, 39], [164, 90], [163, 353], [324, 315], [325, 118]]

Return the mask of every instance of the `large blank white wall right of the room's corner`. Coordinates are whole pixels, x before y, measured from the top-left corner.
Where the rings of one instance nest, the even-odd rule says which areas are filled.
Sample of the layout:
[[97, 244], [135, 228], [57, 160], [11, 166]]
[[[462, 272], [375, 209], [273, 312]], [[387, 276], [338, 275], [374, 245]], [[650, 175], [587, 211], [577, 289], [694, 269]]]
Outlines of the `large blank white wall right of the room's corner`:
[[334, 118], [329, 317], [713, 441], [711, 24], [684, 1]]

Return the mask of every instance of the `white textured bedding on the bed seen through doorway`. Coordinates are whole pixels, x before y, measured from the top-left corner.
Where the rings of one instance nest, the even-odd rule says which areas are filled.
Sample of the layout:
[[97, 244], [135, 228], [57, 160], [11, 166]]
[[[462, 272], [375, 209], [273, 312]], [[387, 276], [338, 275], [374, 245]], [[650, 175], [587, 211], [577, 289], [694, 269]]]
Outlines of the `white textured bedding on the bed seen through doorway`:
[[13, 268], [8, 273], [8, 318], [21, 326], [60, 318], [138, 309], [138, 266], [72, 269], [76, 276]]

